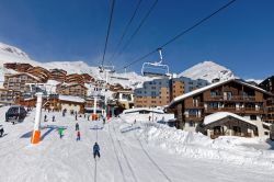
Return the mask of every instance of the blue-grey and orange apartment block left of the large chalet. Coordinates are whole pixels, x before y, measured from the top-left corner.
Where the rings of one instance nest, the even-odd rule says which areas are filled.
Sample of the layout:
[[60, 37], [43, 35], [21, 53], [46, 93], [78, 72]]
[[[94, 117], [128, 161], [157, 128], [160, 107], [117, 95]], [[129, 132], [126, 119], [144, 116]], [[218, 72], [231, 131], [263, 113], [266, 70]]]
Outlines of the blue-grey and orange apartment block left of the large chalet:
[[168, 105], [173, 98], [207, 84], [206, 80], [192, 80], [186, 77], [146, 81], [142, 88], [135, 89], [134, 91], [134, 105], [136, 107]]

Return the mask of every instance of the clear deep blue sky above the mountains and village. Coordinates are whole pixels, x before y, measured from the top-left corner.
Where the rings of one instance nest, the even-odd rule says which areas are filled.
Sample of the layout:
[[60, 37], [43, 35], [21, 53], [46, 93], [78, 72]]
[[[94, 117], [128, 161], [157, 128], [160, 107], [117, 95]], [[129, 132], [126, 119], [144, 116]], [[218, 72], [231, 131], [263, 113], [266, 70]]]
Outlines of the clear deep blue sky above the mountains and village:
[[[155, 0], [142, 0], [124, 41]], [[127, 49], [111, 60], [117, 68], [151, 52], [228, 0], [159, 0]], [[137, 0], [116, 0], [106, 64]], [[202, 26], [163, 49], [171, 71], [181, 72], [214, 60], [242, 78], [274, 73], [274, 1], [238, 0]], [[0, 42], [14, 45], [38, 61], [102, 60], [110, 15], [109, 0], [0, 0]], [[147, 60], [157, 60], [158, 55]], [[144, 60], [144, 61], [145, 61]], [[130, 67], [140, 71], [141, 61]]]

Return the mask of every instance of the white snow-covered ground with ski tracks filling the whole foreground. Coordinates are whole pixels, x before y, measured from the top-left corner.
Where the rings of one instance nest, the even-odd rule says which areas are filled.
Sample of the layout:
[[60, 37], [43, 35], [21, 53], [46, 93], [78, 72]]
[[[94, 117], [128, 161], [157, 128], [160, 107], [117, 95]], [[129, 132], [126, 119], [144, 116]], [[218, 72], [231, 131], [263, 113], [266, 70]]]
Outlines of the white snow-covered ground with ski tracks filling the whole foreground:
[[[30, 144], [35, 109], [23, 123], [4, 122], [8, 106], [0, 107], [0, 181], [3, 182], [272, 182], [274, 144], [265, 138], [221, 137], [209, 139], [148, 121], [136, 124], [111, 118], [88, 121], [78, 116], [81, 140], [77, 141], [73, 115], [45, 112], [41, 143]], [[52, 122], [55, 115], [56, 122]], [[57, 133], [65, 128], [60, 139]], [[94, 160], [98, 141], [101, 158]], [[256, 149], [256, 145], [270, 148]]]

